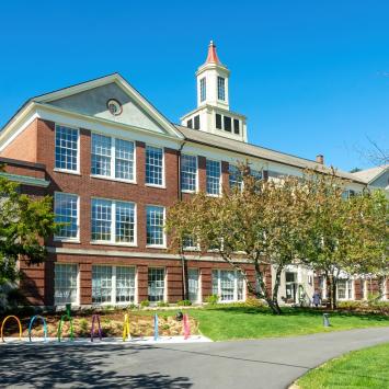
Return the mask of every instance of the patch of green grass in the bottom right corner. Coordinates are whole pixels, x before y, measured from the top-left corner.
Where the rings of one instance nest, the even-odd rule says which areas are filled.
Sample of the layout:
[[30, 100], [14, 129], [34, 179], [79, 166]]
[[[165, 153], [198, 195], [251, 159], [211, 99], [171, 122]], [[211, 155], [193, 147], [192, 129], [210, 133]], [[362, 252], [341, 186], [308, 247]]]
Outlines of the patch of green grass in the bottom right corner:
[[389, 343], [351, 352], [310, 370], [300, 389], [389, 388]]

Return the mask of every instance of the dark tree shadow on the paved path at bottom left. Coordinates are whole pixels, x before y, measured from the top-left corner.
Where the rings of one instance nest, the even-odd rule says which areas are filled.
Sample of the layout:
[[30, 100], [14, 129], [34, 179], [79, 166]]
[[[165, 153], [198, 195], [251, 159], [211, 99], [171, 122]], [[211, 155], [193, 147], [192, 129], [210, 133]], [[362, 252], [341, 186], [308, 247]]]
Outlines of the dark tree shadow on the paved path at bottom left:
[[[191, 388], [187, 377], [171, 377], [158, 371], [137, 374], [128, 363], [134, 354], [150, 346], [119, 345], [3, 345], [1, 346], [1, 387], [30, 388]], [[117, 368], [121, 370], [117, 371]], [[124, 373], [126, 371], [126, 374]], [[131, 373], [131, 374], [128, 374]]]

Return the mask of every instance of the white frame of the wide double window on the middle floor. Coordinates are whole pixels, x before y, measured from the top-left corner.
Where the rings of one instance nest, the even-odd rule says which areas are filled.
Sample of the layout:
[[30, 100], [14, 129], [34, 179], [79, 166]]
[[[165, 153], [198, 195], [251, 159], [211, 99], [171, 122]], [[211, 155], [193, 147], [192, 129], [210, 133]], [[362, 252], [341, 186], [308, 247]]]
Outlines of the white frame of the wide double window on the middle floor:
[[[111, 240], [94, 240], [92, 239], [92, 201], [102, 199], [111, 202]], [[116, 242], [116, 203], [127, 203], [134, 205], [134, 242]], [[91, 220], [91, 244], [106, 244], [106, 245], [125, 245], [125, 247], [137, 247], [138, 245], [138, 210], [137, 204], [134, 202], [127, 202], [122, 199], [112, 199], [104, 197], [91, 197], [90, 202], [90, 220]]]

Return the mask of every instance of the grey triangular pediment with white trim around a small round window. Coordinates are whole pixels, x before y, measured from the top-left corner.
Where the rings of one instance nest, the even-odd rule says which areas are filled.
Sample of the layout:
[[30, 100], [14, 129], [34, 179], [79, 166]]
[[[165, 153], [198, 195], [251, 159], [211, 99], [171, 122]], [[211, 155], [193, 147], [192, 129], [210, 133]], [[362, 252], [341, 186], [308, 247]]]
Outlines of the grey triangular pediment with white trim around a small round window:
[[[121, 104], [119, 115], [110, 112], [107, 107], [110, 100], [115, 100]], [[119, 75], [66, 88], [36, 98], [34, 101], [65, 111], [182, 138], [181, 133]]]

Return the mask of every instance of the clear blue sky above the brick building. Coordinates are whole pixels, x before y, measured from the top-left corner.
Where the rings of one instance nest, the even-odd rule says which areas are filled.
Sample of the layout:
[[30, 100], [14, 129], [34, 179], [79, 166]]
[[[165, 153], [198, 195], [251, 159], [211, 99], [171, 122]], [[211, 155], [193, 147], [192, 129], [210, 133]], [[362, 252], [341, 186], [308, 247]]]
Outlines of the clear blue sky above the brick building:
[[388, 1], [8, 1], [0, 126], [28, 98], [121, 72], [172, 122], [195, 107], [209, 39], [249, 140], [344, 170], [388, 148]]

